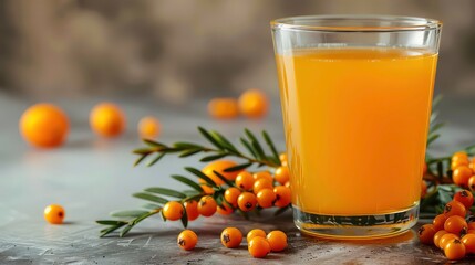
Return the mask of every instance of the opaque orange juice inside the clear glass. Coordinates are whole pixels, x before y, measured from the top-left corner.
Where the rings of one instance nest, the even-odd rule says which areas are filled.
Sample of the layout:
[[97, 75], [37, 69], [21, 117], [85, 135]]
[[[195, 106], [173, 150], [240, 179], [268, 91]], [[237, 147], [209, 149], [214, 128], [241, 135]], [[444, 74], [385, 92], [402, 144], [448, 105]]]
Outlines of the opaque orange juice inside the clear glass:
[[348, 216], [416, 205], [436, 61], [382, 47], [277, 55], [293, 206]]

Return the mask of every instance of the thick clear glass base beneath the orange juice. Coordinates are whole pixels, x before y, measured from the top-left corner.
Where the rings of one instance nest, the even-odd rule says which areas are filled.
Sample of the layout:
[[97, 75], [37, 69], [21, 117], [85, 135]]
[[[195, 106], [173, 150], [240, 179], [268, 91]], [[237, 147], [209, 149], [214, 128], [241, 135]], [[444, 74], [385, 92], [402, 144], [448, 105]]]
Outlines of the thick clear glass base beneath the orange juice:
[[419, 203], [399, 212], [376, 215], [323, 215], [293, 205], [293, 222], [304, 234], [334, 240], [372, 240], [395, 236], [417, 223]]

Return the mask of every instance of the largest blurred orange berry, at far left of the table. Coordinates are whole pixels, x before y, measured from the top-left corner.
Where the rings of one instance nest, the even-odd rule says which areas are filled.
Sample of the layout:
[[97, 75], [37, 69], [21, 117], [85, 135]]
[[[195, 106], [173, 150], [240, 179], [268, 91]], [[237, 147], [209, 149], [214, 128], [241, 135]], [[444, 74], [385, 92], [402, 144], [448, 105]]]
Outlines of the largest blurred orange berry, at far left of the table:
[[68, 137], [70, 121], [62, 109], [51, 104], [37, 104], [21, 115], [19, 129], [23, 139], [41, 148], [61, 146]]

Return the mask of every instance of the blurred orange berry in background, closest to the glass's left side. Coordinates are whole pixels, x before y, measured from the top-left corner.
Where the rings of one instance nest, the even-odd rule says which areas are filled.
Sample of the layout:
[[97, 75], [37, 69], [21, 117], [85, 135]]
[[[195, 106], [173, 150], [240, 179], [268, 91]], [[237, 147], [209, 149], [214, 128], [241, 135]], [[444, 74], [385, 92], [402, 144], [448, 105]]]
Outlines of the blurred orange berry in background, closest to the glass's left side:
[[260, 118], [267, 114], [269, 103], [266, 95], [258, 89], [248, 89], [239, 96], [239, 112], [248, 118]]

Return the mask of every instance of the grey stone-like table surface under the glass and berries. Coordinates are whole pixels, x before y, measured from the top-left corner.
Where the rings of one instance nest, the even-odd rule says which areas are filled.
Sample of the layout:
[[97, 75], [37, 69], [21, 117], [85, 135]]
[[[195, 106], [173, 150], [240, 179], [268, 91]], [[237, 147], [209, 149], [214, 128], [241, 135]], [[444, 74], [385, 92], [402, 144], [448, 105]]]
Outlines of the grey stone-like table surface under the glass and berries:
[[[199, 141], [195, 127], [214, 128], [236, 139], [244, 127], [266, 128], [283, 147], [279, 104], [273, 98], [270, 115], [260, 121], [238, 119], [216, 121], [207, 117], [205, 102], [173, 107], [149, 99], [128, 98], [116, 102], [127, 113], [128, 129], [117, 139], [95, 137], [89, 129], [87, 115], [100, 102], [64, 99], [56, 102], [70, 115], [72, 128], [66, 145], [52, 150], [29, 147], [18, 134], [18, 119], [31, 104], [0, 93], [0, 264], [432, 264], [445, 263], [442, 253], [421, 245], [414, 230], [401, 236], [360, 242], [338, 242], [307, 237], [293, 226], [290, 212], [273, 218], [266, 212], [245, 221], [240, 216], [199, 218], [189, 227], [199, 235], [195, 251], [176, 246], [179, 222], [153, 216], [134, 227], [126, 237], [99, 239], [100, 225], [109, 212], [137, 209], [142, 202], [130, 194], [146, 187], [183, 188], [169, 174], [183, 172], [184, 166], [203, 167], [193, 159], [165, 158], [161, 163], [133, 168], [131, 150], [141, 146], [134, 134], [140, 117], [157, 116], [163, 125], [161, 140]], [[452, 106], [457, 106], [453, 108]], [[471, 103], [450, 99], [441, 106], [442, 119], [451, 120], [435, 145], [441, 152], [451, 151], [473, 140], [475, 124], [462, 117], [472, 112]], [[66, 210], [63, 225], [43, 220], [43, 209], [59, 203]], [[266, 259], [249, 256], [245, 244], [238, 250], [220, 245], [219, 233], [226, 226], [242, 231], [260, 227], [279, 229], [289, 236], [289, 248]], [[466, 261], [466, 263], [468, 263]]]

